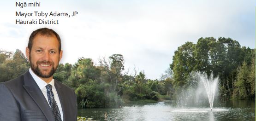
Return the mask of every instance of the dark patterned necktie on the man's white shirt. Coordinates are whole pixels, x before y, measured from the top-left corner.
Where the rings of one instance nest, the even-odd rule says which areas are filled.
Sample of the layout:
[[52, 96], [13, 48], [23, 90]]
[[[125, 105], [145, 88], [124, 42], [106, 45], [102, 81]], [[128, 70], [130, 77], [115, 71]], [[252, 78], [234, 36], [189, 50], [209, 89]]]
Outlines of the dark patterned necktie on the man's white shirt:
[[48, 84], [46, 86], [46, 90], [47, 90], [48, 102], [49, 102], [50, 108], [52, 109], [53, 114], [54, 114], [54, 119], [55, 119], [55, 121], [61, 121], [60, 110], [59, 110], [59, 107], [54, 99], [52, 85]]

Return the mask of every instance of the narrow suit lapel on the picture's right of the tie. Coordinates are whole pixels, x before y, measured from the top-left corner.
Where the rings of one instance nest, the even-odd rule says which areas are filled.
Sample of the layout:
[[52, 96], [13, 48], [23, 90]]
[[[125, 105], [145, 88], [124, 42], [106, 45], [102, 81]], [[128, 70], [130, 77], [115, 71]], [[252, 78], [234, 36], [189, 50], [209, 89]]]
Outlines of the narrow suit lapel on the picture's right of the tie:
[[58, 96], [59, 96], [59, 99], [60, 99], [60, 104], [61, 104], [61, 108], [62, 108], [62, 113], [63, 113], [63, 121], [65, 121], [65, 115], [67, 115], [66, 114], [66, 111], [68, 110], [68, 108], [66, 107], [66, 103], [65, 103], [65, 97], [64, 97], [64, 95], [65, 95], [65, 93], [62, 91], [62, 86], [60, 86], [60, 84], [59, 84], [60, 82], [59, 81], [56, 81], [56, 80], [54, 80], [54, 86], [55, 86], [55, 88], [56, 88], [56, 91], [57, 91], [57, 93], [58, 93]]

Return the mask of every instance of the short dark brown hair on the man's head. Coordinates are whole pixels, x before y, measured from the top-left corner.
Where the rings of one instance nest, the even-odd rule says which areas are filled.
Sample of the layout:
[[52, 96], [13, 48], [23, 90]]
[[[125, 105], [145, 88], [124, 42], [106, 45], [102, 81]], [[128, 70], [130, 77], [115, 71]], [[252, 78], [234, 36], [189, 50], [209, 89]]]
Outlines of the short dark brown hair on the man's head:
[[28, 44], [28, 48], [30, 49], [30, 52], [31, 52], [31, 48], [33, 45], [33, 40], [36, 37], [36, 35], [43, 35], [43, 36], [47, 36], [47, 37], [55, 36], [57, 38], [57, 40], [59, 41], [59, 53], [60, 53], [60, 51], [61, 51], [60, 36], [53, 29], [48, 29], [48, 28], [37, 29], [31, 33], [30, 39], [29, 39], [29, 44]]

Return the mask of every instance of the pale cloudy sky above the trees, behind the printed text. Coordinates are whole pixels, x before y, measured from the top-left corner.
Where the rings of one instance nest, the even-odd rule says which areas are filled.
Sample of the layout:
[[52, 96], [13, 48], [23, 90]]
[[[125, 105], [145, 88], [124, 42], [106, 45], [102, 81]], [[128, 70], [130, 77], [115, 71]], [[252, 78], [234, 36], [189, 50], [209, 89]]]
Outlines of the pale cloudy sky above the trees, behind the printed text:
[[[255, 0], [35, 0], [40, 7], [0, 5], [0, 50], [25, 53], [30, 34], [54, 29], [62, 39], [60, 63], [78, 58], [122, 54], [125, 71], [144, 71], [159, 79], [172, 63], [174, 51], [200, 37], [230, 37], [241, 46], [255, 48]], [[27, 2], [30, 2], [28, 0]], [[78, 12], [76, 17], [16, 17], [16, 12]], [[16, 24], [16, 19], [58, 19], [59, 24]]]

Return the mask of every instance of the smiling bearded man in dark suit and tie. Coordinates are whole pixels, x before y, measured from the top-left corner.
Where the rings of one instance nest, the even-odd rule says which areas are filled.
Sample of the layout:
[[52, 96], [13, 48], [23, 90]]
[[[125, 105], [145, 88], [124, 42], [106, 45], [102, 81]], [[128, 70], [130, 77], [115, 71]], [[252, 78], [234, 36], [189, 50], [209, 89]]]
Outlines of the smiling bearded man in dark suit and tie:
[[0, 84], [0, 121], [77, 121], [75, 92], [53, 79], [62, 58], [60, 36], [37, 29], [26, 48], [30, 69]]

